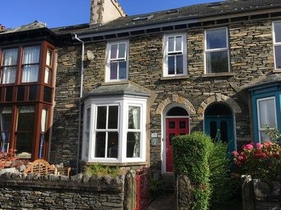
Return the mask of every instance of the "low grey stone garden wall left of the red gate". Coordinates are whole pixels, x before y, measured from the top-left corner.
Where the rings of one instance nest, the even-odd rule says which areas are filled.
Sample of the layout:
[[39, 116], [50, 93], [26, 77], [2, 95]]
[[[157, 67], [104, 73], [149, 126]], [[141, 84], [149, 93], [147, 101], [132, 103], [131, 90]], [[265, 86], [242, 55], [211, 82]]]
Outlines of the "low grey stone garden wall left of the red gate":
[[0, 175], [0, 209], [123, 210], [125, 176]]

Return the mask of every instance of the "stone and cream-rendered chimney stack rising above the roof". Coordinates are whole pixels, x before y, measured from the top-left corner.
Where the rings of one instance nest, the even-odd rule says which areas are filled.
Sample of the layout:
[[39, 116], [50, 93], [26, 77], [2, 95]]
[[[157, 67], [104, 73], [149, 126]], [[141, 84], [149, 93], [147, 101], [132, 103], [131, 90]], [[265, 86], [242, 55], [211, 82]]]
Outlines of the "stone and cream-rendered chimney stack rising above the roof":
[[105, 24], [125, 16], [116, 0], [91, 0], [90, 24]]

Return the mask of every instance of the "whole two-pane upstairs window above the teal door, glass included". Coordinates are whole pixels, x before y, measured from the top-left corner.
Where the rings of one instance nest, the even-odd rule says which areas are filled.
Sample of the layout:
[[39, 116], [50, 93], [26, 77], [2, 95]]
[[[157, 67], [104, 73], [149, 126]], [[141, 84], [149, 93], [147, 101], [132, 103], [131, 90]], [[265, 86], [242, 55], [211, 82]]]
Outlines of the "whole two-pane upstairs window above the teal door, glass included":
[[229, 72], [227, 28], [205, 31], [206, 74]]

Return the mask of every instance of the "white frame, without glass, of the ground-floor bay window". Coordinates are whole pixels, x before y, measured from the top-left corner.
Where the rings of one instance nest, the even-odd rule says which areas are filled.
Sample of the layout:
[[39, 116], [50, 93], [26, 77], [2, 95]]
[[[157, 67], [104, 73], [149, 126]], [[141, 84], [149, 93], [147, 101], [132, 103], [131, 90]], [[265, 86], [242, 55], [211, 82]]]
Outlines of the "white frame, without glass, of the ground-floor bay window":
[[[132, 97], [132, 96], [120, 96], [120, 97], [94, 97], [88, 98], [84, 102], [84, 110], [90, 108], [91, 110], [91, 122], [90, 122], [90, 134], [89, 134], [89, 146], [86, 139], [86, 111], [84, 112], [84, 125], [83, 125], [83, 142], [82, 142], [82, 160], [93, 163], [132, 163], [132, 162], [145, 162], [146, 161], [146, 97]], [[100, 158], [95, 157], [96, 151], [96, 132], [100, 129], [96, 129], [96, 118], [98, 106], [119, 106], [119, 143], [118, 143], [118, 158]], [[128, 109], [129, 106], [139, 106], [141, 108], [140, 113], [140, 155], [139, 157], [127, 158], [127, 133], [128, 129]], [[88, 156], [86, 155], [88, 153]]]

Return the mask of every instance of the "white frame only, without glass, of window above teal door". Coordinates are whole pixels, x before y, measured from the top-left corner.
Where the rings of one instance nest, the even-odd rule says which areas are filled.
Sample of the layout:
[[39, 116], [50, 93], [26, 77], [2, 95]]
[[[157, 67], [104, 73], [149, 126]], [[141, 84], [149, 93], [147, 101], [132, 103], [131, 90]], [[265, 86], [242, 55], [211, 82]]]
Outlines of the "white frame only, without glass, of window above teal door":
[[[225, 29], [225, 36], [226, 36], [226, 42], [227, 42], [227, 47], [225, 48], [214, 48], [214, 49], [207, 49], [207, 31], [214, 31], [214, 30], [218, 30], [218, 29]], [[221, 27], [221, 28], [215, 28], [215, 29], [206, 29], [204, 31], [204, 42], [205, 42], [205, 46], [204, 46], [204, 71], [205, 74], [220, 74], [220, 73], [228, 73], [230, 72], [230, 57], [229, 57], [229, 37], [228, 37], [228, 28], [227, 27]], [[207, 56], [206, 54], [211, 53], [211, 52], [215, 52], [215, 51], [227, 51], [227, 65], [228, 65], [228, 71], [227, 72], [220, 72], [220, 73], [213, 73], [213, 72], [208, 72], [207, 69]]]

